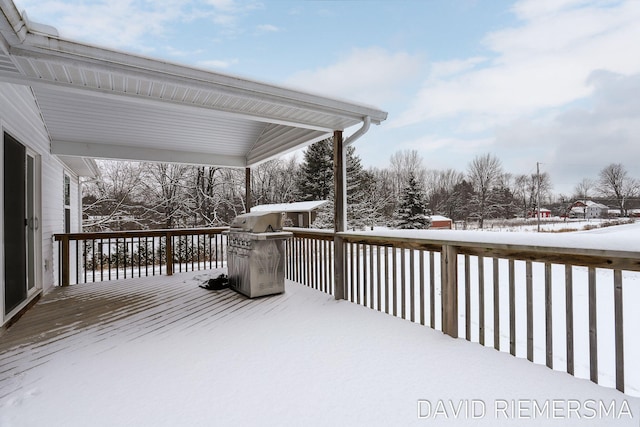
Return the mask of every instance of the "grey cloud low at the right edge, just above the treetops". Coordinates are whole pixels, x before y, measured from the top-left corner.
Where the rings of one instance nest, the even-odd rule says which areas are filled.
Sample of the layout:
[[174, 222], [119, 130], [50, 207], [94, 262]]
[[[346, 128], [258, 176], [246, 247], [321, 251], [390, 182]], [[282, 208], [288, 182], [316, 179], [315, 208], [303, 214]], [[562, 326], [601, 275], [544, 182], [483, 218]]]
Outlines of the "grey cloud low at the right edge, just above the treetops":
[[569, 108], [548, 123], [519, 120], [496, 133], [501, 156], [517, 152], [522, 158], [521, 147], [529, 147], [530, 161], [541, 161], [555, 190], [565, 194], [611, 163], [640, 178], [640, 73], [597, 71], [588, 82], [590, 105]]

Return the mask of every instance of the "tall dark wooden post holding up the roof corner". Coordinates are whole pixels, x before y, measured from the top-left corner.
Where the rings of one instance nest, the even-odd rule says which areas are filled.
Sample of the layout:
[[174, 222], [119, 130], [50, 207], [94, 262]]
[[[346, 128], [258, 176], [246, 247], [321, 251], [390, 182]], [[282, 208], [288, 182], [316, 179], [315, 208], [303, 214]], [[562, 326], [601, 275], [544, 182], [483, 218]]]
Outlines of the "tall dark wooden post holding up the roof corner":
[[337, 233], [347, 230], [347, 180], [342, 131], [333, 132], [333, 231], [335, 262], [333, 263], [334, 296], [344, 299], [344, 243]]

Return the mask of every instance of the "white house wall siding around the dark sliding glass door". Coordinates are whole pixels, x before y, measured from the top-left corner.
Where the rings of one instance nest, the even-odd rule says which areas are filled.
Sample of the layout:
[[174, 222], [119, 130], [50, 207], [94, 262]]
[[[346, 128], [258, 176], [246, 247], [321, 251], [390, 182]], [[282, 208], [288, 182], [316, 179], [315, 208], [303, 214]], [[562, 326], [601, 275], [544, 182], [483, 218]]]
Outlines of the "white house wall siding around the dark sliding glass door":
[[[0, 83], [0, 128], [16, 138], [20, 143], [33, 150], [40, 164], [40, 232], [42, 237], [41, 258], [37, 268], [41, 269], [41, 280], [37, 284], [45, 291], [57, 283], [57, 244], [53, 234], [64, 232], [63, 174], [62, 162], [50, 154], [50, 141], [31, 89], [8, 83]], [[2, 136], [0, 135], [0, 139]], [[1, 150], [0, 150], [1, 152]], [[1, 155], [1, 154], [0, 154]], [[71, 227], [79, 231], [78, 177], [67, 171], [71, 177]], [[3, 177], [0, 175], [0, 192]], [[2, 200], [2, 198], [0, 198]], [[0, 210], [0, 233], [4, 233], [1, 224], [3, 212]], [[4, 260], [4, 236], [0, 259]], [[0, 263], [0, 277], [4, 289], [4, 261]], [[4, 293], [4, 292], [3, 292]]]

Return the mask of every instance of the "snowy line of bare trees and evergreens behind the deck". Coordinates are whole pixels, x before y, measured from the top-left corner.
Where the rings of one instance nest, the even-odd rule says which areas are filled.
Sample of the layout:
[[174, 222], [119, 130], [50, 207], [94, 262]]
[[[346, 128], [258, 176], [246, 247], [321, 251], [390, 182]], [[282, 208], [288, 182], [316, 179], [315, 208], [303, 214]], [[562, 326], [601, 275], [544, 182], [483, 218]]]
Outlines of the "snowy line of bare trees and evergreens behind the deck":
[[[347, 147], [347, 223], [350, 229], [376, 225], [428, 228], [431, 215], [474, 221], [527, 217], [538, 204], [555, 214], [576, 199], [606, 198], [626, 215], [640, 183], [622, 164], [584, 178], [572, 195], [552, 193], [548, 173], [511, 174], [487, 153], [464, 171], [430, 170], [416, 150], [397, 151], [386, 168], [364, 169]], [[246, 211], [244, 170], [144, 162], [98, 162], [101, 175], [83, 185], [86, 231], [189, 228], [228, 225]], [[333, 143], [310, 145], [301, 161], [275, 159], [251, 169], [254, 205], [328, 200], [313, 224], [333, 226]]]

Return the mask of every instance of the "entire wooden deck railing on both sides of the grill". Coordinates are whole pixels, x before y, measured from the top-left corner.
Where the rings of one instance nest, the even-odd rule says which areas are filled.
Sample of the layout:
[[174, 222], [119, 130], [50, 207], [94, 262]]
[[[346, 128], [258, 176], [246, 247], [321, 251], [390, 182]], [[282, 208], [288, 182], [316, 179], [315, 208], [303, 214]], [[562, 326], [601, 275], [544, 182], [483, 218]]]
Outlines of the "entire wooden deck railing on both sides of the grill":
[[[224, 230], [56, 235], [59, 283], [224, 267]], [[289, 280], [640, 395], [640, 346], [624, 345], [640, 336], [640, 252], [536, 233], [287, 231]]]

